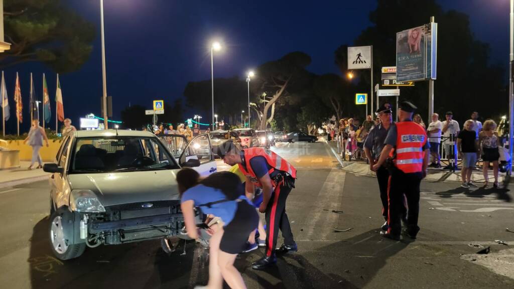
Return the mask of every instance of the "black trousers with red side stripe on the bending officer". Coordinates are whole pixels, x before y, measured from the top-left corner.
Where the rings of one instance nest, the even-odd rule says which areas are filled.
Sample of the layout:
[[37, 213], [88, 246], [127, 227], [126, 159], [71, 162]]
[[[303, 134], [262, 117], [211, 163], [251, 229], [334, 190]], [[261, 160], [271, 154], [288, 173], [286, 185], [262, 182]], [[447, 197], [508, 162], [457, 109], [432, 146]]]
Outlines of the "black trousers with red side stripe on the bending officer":
[[273, 250], [277, 246], [277, 237], [279, 236], [279, 228], [282, 231], [284, 244], [293, 245], [295, 239], [292, 237], [291, 225], [286, 214], [286, 200], [290, 187], [277, 186], [266, 208], [266, 256], [274, 254]]

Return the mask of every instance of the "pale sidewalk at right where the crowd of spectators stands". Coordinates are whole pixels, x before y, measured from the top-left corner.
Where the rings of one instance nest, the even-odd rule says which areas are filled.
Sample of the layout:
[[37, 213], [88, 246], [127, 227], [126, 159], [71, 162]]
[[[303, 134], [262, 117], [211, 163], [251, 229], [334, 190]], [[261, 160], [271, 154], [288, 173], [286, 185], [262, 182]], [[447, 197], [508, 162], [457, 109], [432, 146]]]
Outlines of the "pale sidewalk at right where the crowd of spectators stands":
[[[334, 153], [337, 152], [337, 143], [334, 141], [329, 141], [328, 146], [331, 147], [334, 151]], [[342, 169], [347, 172], [352, 172], [358, 175], [369, 175], [369, 176], [376, 176], [375, 172], [372, 172], [370, 170], [370, 165], [366, 164], [364, 161], [347, 161], [342, 160], [340, 155], [338, 158], [341, 160]], [[489, 183], [492, 184], [494, 182], [494, 176], [492, 170], [489, 170], [488, 172], [489, 177]], [[505, 173], [499, 172], [498, 173], [498, 182], [503, 182], [505, 178]], [[471, 179], [473, 182], [476, 183], [484, 183], [484, 176], [482, 174], [482, 170], [475, 169], [473, 170], [473, 173], [471, 175]], [[461, 171], [455, 171], [451, 172], [449, 170], [443, 170], [443, 169], [433, 169], [429, 168], [428, 175], [425, 178], [428, 182], [462, 182], [461, 179]]]

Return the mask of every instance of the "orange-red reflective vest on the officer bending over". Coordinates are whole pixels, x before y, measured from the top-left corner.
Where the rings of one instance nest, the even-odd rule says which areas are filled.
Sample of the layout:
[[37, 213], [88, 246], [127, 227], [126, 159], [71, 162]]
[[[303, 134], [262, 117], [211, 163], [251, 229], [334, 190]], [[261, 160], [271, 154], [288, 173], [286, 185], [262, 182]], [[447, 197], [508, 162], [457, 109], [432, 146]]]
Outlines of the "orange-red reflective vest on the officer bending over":
[[[268, 172], [269, 174], [271, 174], [274, 170], [279, 170], [288, 173], [293, 178], [296, 178], [295, 167], [289, 164], [287, 160], [281, 158], [278, 154], [270, 150], [265, 150], [263, 148], [250, 148], [243, 150], [243, 153], [245, 155], [246, 169], [242, 164], [239, 164], [239, 169], [243, 172], [245, 176], [251, 179], [252, 183], [255, 186], [262, 187], [261, 182], [259, 182], [259, 179], [252, 170], [252, 166], [250, 166], [250, 160], [256, 156], [262, 156], [266, 159], [266, 162], [271, 167], [271, 169]], [[271, 179], [271, 183], [273, 187], [277, 185], [273, 179]]]

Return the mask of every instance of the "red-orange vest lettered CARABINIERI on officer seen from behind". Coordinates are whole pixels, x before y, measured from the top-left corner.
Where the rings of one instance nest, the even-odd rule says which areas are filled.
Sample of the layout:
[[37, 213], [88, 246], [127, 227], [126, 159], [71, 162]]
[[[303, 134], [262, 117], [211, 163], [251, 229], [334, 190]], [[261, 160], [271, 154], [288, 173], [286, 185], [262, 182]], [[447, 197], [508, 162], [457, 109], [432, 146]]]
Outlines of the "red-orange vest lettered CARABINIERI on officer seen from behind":
[[394, 164], [404, 173], [417, 173], [423, 170], [427, 133], [421, 125], [413, 121], [396, 123], [396, 157]]

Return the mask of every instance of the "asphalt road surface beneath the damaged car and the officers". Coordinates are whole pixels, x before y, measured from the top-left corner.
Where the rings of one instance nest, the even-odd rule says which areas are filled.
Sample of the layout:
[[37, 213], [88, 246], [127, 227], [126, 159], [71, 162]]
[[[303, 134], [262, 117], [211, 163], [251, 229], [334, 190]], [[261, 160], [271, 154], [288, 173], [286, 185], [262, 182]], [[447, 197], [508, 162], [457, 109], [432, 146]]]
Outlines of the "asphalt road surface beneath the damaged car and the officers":
[[[383, 220], [374, 178], [338, 169], [324, 143], [282, 144], [274, 150], [293, 164], [298, 160], [297, 188], [289, 195], [287, 212], [299, 252], [262, 272], [250, 264], [263, 249], [241, 256], [236, 267], [248, 288], [514, 288], [509, 249], [514, 233], [505, 231], [514, 229], [511, 187], [468, 191], [455, 189], [454, 183], [423, 183], [418, 239], [394, 242], [378, 234]], [[2, 287], [192, 288], [206, 283], [207, 252], [192, 242], [180, 242], [171, 255], [158, 241], [145, 241], [88, 248], [70, 261], [54, 259], [48, 190], [45, 181], [0, 189]], [[490, 246], [491, 252], [471, 255], [479, 248], [469, 244]]]

